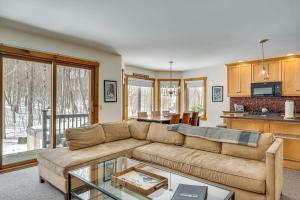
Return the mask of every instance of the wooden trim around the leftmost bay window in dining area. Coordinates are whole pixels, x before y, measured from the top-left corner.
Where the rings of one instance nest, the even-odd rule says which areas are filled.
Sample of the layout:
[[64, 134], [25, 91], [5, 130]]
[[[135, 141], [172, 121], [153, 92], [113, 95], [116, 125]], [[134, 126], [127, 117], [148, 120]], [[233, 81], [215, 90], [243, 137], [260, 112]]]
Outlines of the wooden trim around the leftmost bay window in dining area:
[[129, 78], [136, 78], [142, 80], [149, 80], [152, 81], [152, 110], [155, 110], [155, 79], [154, 78], [147, 78], [143, 76], [135, 76], [125, 74], [125, 81], [123, 83], [123, 120], [128, 120], [128, 79]]

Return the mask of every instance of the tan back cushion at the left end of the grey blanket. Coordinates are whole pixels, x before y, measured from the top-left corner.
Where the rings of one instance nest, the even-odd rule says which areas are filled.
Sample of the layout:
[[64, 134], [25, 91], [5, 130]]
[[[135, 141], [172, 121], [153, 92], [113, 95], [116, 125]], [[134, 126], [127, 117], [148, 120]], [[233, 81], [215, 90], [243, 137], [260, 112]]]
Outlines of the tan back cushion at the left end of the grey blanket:
[[151, 123], [147, 140], [151, 142], [182, 145], [184, 135], [174, 131], [168, 131], [167, 126], [167, 124]]

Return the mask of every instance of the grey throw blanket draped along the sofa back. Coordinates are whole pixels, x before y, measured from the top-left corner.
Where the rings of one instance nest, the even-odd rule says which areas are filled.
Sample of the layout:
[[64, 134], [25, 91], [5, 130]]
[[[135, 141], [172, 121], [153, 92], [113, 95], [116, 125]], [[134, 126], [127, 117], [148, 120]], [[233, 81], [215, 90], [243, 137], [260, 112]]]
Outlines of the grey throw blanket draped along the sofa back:
[[260, 133], [227, 128], [198, 127], [186, 124], [168, 126], [169, 131], [176, 131], [183, 135], [201, 137], [216, 142], [227, 142], [250, 147], [257, 147]]

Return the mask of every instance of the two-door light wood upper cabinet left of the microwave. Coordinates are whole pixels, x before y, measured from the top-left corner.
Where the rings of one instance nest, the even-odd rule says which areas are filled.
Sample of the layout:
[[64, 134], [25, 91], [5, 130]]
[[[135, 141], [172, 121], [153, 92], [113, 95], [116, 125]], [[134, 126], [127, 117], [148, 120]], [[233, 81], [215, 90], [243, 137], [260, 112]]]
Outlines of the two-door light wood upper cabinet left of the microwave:
[[251, 96], [251, 65], [238, 64], [227, 67], [228, 96]]

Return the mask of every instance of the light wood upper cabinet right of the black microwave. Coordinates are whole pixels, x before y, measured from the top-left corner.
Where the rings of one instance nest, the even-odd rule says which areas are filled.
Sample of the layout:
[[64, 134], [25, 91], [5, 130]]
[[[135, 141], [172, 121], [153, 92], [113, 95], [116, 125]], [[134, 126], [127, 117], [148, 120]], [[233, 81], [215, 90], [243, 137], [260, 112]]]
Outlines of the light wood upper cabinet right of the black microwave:
[[299, 58], [282, 60], [283, 96], [300, 96], [300, 61]]

